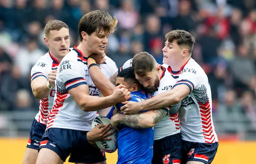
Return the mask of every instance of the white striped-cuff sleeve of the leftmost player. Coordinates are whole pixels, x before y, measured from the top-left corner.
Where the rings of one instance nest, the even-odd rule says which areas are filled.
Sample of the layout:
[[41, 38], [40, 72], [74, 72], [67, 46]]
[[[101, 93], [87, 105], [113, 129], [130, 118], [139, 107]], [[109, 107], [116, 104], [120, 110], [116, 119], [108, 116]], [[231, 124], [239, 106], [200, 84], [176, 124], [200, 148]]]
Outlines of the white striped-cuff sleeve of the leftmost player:
[[51, 66], [48, 66], [48, 64], [44, 62], [44, 60], [39, 59], [38, 62], [36, 62], [36, 64], [31, 69], [31, 81], [39, 76], [43, 76], [48, 79], [47, 69], [49, 67]]

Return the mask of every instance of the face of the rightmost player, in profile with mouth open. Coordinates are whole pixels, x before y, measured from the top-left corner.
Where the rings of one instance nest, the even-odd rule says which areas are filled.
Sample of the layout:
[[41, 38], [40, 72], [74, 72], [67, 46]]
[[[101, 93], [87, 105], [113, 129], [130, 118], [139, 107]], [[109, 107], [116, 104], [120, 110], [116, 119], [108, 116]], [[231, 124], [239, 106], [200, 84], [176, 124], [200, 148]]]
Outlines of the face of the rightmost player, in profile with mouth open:
[[163, 63], [172, 65], [172, 63], [179, 61], [180, 58], [182, 58], [182, 54], [184, 52], [183, 48], [181, 48], [177, 41], [174, 40], [172, 43], [166, 42], [164, 43], [163, 51]]

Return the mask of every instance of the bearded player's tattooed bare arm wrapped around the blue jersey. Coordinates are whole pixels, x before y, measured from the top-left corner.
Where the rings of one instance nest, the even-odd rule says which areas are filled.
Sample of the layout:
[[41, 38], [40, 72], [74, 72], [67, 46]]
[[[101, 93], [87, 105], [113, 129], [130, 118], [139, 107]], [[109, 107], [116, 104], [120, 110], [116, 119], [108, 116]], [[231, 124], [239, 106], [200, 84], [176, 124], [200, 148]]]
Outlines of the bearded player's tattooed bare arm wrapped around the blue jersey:
[[118, 124], [124, 124], [131, 128], [151, 128], [154, 127], [167, 114], [164, 109], [150, 110], [144, 113], [133, 115], [116, 114], [110, 123], [116, 127]]

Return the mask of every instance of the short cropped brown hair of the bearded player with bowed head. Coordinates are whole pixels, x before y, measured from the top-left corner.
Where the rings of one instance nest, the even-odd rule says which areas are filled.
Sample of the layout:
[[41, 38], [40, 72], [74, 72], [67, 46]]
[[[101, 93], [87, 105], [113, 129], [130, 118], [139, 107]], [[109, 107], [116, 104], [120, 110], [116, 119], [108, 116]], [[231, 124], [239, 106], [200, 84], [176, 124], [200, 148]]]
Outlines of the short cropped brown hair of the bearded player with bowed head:
[[132, 60], [132, 69], [134, 74], [145, 76], [147, 72], [156, 68], [156, 59], [148, 52], [140, 52], [135, 54]]

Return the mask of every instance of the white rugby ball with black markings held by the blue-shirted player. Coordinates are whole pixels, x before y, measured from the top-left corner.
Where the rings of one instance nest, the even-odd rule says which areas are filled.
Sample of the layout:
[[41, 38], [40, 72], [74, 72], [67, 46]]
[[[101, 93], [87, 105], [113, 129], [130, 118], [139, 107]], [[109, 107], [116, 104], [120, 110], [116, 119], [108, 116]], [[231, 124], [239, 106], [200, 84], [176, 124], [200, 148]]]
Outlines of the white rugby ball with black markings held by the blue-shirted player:
[[[92, 121], [92, 128], [94, 128], [98, 124], [108, 125], [110, 124], [110, 119], [104, 116], [96, 116]], [[117, 132], [115, 128], [111, 128], [108, 133], [113, 132], [112, 135], [108, 136], [108, 138], [112, 138], [112, 140], [104, 140], [104, 141], [96, 141], [96, 145], [103, 150], [104, 152], [112, 153], [117, 149]]]

